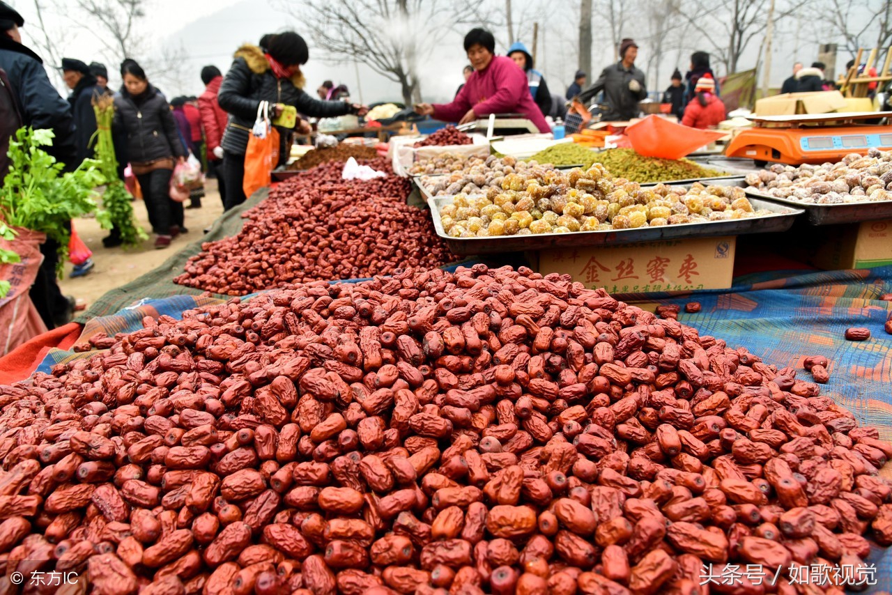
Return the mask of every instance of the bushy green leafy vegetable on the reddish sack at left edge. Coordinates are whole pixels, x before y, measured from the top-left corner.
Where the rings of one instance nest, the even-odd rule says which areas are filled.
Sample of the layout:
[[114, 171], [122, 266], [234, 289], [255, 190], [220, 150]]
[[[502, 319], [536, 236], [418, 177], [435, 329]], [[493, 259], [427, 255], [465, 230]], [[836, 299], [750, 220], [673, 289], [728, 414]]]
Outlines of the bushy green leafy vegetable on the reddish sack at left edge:
[[111, 227], [106, 211], [97, 211], [95, 186], [103, 183], [98, 161], [85, 160], [62, 173], [62, 163], [40, 147], [52, 145], [52, 130], [19, 128], [10, 139], [9, 173], [0, 187], [0, 219], [8, 227], [24, 227], [59, 243], [58, 272], [68, 257], [70, 231], [66, 223], [95, 211], [104, 228]]

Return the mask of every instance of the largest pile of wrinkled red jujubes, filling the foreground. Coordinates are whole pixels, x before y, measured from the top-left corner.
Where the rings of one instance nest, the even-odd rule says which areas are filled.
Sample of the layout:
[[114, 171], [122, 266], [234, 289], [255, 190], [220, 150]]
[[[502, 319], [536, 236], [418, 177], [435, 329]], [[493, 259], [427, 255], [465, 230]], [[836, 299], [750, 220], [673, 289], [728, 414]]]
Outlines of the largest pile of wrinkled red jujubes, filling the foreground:
[[[144, 324], [0, 386], [6, 576], [792, 594], [791, 565], [857, 579], [866, 537], [892, 543], [877, 430], [796, 369], [566, 276], [406, 270]], [[701, 587], [705, 567], [747, 574]]]

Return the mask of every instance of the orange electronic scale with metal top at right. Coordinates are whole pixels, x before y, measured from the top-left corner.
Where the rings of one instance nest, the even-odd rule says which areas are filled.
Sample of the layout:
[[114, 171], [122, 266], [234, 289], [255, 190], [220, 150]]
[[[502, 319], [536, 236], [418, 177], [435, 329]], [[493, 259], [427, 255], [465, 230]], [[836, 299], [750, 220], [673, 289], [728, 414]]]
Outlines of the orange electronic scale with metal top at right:
[[[892, 149], [892, 126], [873, 123], [892, 112], [810, 113], [749, 116], [755, 126], [736, 134], [728, 157], [800, 165], [839, 161], [848, 153]], [[872, 121], [871, 121], [872, 120]]]

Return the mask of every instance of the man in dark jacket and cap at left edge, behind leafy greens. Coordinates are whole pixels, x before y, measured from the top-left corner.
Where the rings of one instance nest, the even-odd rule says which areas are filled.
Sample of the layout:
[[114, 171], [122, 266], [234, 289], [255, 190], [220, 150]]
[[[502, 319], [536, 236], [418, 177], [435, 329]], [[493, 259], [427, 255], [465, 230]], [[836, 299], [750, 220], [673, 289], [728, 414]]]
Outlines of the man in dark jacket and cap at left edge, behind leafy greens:
[[[21, 14], [0, 2], [0, 70], [6, 73], [21, 124], [52, 129], [55, 137], [53, 145], [45, 147], [46, 153], [65, 163], [65, 169], [73, 170], [77, 167], [77, 157], [70, 106], [50, 84], [40, 57], [21, 45], [19, 28], [24, 24]], [[5, 141], [8, 144], [9, 139]], [[53, 240], [40, 244], [44, 261], [29, 292], [40, 318], [49, 328], [68, 323], [74, 312], [74, 298], [62, 295], [56, 283], [58, 248]]]

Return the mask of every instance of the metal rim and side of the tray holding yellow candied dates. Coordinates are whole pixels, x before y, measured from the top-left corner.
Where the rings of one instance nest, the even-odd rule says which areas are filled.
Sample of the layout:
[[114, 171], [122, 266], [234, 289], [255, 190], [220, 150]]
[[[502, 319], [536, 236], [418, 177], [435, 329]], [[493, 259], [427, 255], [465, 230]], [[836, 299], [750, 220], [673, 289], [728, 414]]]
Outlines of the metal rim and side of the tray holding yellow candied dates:
[[[676, 185], [677, 186], [677, 185]], [[688, 237], [741, 236], [744, 234], [767, 234], [787, 231], [803, 212], [777, 202], [750, 199], [756, 210], [772, 211], [771, 215], [750, 219], [730, 219], [708, 223], [682, 223], [661, 227], [638, 227], [635, 229], [613, 229], [610, 231], [578, 231], [569, 234], [536, 234], [532, 236], [497, 237], [450, 237], [440, 223], [440, 209], [451, 202], [451, 196], [436, 196], [427, 199], [434, 218], [437, 236], [460, 256], [469, 254], [492, 254], [499, 252], [522, 252], [524, 250], [544, 250], [547, 248], [578, 248], [581, 246], [612, 246], [635, 244], [658, 240], [681, 239]]]

